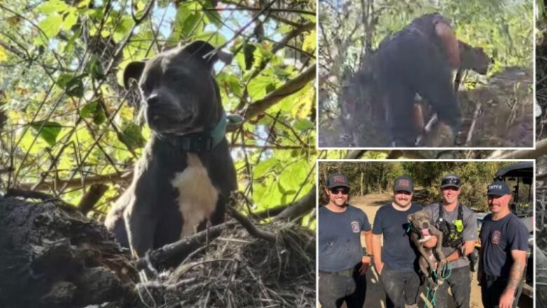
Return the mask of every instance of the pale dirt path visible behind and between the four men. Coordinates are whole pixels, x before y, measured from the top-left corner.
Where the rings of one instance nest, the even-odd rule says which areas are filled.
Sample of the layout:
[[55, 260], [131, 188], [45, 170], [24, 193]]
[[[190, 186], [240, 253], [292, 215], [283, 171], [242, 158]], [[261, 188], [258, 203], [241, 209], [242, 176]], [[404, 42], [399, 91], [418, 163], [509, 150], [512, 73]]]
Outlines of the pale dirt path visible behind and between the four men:
[[[374, 216], [376, 216], [376, 211], [378, 211], [382, 204], [391, 201], [391, 197], [391, 193], [369, 194], [365, 196], [352, 197], [350, 203], [353, 206], [362, 209], [365, 214], [367, 214], [368, 220], [372, 224], [374, 222]], [[362, 240], [364, 243], [364, 239]], [[476, 274], [471, 274], [471, 307], [480, 308], [482, 307], [482, 302], [480, 300], [480, 287], [477, 284]], [[376, 271], [374, 269], [370, 269], [367, 272], [367, 297], [365, 307], [386, 307], [384, 302], [385, 296], [386, 295], [379, 284]], [[449, 308], [455, 307], [454, 302], [450, 302], [449, 304]], [[424, 302], [420, 302], [419, 307], [424, 307]], [[520, 297], [518, 307], [532, 308], [532, 299], [522, 295]]]

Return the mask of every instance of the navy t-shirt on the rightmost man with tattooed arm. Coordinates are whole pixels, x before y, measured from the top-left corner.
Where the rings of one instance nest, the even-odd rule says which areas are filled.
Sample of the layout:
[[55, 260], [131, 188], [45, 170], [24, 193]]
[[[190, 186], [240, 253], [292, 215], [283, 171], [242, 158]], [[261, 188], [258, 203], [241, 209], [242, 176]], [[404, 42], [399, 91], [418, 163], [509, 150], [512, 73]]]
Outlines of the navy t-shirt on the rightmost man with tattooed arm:
[[527, 251], [528, 229], [515, 214], [499, 221], [492, 214], [485, 216], [480, 228], [482, 269], [486, 274], [508, 278], [513, 266], [512, 250]]

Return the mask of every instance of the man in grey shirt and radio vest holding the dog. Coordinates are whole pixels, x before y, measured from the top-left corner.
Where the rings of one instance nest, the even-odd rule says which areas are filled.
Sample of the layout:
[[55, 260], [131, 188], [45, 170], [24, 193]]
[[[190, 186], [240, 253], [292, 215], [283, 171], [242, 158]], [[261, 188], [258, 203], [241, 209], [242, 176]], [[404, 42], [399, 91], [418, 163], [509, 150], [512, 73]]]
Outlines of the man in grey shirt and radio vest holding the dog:
[[443, 279], [435, 293], [435, 307], [448, 307], [448, 288], [458, 308], [468, 308], [471, 300], [471, 270], [467, 255], [471, 254], [477, 241], [477, 217], [473, 210], [458, 201], [460, 179], [455, 174], [444, 176], [440, 184], [443, 200], [426, 209], [431, 220], [443, 232], [445, 266]]

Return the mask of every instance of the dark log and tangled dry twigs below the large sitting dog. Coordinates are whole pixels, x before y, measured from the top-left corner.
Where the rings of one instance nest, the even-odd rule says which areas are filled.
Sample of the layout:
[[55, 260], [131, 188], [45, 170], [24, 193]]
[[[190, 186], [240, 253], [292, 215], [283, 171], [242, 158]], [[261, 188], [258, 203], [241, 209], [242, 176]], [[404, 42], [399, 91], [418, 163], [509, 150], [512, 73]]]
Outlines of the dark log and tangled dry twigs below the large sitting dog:
[[[255, 231], [266, 236], [231, 219], [131, 262], [70, 205], [1, 198], [0, 307], [316, 307], [313, 231], [281, 221]], [[186, 256], [138, 283], [137, 268], [173, 255]]]

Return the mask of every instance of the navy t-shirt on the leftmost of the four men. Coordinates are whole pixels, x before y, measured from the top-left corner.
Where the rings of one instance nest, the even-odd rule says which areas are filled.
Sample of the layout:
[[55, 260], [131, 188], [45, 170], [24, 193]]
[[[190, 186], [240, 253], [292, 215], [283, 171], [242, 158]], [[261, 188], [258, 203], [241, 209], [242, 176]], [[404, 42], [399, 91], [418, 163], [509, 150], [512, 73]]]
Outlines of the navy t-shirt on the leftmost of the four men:
[[318, 211], [319, 269], [340, 272], [361, 262], [361, 231], [370, 231], [365, 212], [351, 205], [342, 213], [321, 207]]

